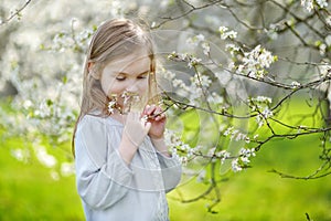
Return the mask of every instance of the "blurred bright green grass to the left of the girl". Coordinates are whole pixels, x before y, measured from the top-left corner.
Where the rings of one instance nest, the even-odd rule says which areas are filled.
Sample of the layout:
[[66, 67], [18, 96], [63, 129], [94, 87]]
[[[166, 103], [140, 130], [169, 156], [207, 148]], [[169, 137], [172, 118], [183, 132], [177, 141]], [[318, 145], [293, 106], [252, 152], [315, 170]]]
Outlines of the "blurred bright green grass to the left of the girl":
[[13, 138], [0, 148], [0, 220], [84, 220], [74, 177], [55, 181], [36, 160], [18, 161], [10, 148], [23, 145]]

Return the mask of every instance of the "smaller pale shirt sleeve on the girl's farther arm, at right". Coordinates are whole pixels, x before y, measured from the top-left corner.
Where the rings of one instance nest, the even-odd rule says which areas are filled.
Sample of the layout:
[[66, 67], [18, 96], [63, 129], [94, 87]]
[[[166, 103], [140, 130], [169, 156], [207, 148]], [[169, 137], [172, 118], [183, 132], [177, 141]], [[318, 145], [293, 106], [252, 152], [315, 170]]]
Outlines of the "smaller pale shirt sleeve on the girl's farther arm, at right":
[[162, 170], [164, 189], [167, 192], [169, 192], [174, 189], [180, 182], [182, 176], [182, 166], [177, 155], [167, 157], [161, 152], [157, 154]]

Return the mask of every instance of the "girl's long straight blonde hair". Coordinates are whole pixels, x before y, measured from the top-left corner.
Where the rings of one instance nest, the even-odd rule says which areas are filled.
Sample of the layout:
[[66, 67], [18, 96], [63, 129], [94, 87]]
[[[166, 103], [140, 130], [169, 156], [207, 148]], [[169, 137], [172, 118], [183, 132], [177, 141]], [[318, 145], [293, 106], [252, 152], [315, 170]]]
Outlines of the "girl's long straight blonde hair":
[[[99, 82], [99, 75], [104, 66], [118, 57], [124, 57], [136, 50], [147, 51], [151, 62], [149, 72], [149, 103], [156, 103], [157, 83], [156, 83], [156, 61], [153, 45], [149, 32], [128, 19], [114, 19], [103, 23], [95, 32], [86, 54], [86, 61], [83, 71], [83, 96], [81, 113], [75, 124], [72, 149], [74, 154], [74, 139], [79, 120], [88, 113], [97, 109], [100, 116], [108, 116], [107, 104], [109, 97], [103, 92]], [[90, 64], [93, 64], [90, 69]]]

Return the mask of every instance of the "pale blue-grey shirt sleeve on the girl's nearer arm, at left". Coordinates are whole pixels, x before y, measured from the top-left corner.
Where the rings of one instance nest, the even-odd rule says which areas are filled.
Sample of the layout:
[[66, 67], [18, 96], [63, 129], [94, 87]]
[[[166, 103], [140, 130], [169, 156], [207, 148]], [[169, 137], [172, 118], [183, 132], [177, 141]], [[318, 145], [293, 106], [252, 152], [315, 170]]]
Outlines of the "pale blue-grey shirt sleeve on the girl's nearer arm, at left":
[[76, 185], [82, 200], [94, 209], [111, 207], [122, 199], [132, 179], [132, 171], [115, 147], [120, 140], [115, 135], [100, 117], [87, 115], [77, 126]]

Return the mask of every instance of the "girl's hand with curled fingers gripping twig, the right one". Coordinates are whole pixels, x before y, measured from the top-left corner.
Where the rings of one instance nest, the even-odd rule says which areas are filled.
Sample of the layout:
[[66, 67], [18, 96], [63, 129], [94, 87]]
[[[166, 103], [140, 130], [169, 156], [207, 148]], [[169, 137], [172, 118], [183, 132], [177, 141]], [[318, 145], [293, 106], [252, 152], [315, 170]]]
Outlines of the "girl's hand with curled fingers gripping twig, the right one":
[[147, 105], [142, 112], [142, 115], [148, 117], [148, 123], [151, 124], [148, 135], [151, 139], [163, 138], [166, 129], [167, 117], [162, 113], [162, 108], [156, 105]]

